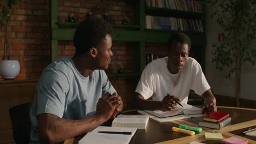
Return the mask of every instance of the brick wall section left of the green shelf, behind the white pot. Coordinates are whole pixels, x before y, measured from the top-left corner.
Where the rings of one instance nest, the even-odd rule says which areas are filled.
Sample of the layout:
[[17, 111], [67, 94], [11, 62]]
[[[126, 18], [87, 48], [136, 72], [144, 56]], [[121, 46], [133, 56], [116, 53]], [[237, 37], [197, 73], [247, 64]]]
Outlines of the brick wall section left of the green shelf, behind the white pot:
[[[3, 3], [4, 1], [1, 1]], [[30, 0], [13, 5], [10, 9], [8, 38], [10, 59], [19, 60], [20, 73], [16, 79], [38, 79], [49, 63], [49, 1]], [[0, 32], [0, 59], [4, 39]], [[1, 77], [0, 77], [1, 79]]]

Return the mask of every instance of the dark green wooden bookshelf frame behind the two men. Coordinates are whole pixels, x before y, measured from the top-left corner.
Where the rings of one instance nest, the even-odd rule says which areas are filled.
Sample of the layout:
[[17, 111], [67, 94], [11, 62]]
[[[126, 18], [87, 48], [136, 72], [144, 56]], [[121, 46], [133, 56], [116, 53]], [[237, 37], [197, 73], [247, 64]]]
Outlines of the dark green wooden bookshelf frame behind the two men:
[[[125, 1], [125, 0], [124, 0]], [[173, 32], [184, 32], [189, 35], [191, 39], [191, 54], [201, 64], [203, 71], [205, 70], [205, 13], [195, 11], [185, 11], [170, 8], [147, 7], [147, 2], [153, 0], [133, 0], [135, 8], [135, 25], [112, 25], [114, 31], [112, 39], [114, 42], [128, 42], [136, 43], [136, 71], [134, 73], [125, 74], [108, 74], [110, 77], [127, 77], [127, 76], [140, 76], [146, 65], [146, 44], [157, 43], [166, 44], [169, 35]], [[159, 0], [165, 2], [165, 0]], [[188, 1], [190, 0], [176, 0]], [[191, 0], [192, 2], [194, 0]], [[203, 2], [200, 1], [200, 2]], [[59, 22], [58, 21], [58, 2], [51, 1], [51, 61], [57, 58], [57, 47], [59, 40], [72, 40], [75, 28], [67, 26], [77, 26], [76, 22]], [[202, 11], [205, 5], [202, 5]], [[147, 29], [146, 28], [146, 15], [162, 16], [162, 17], [176, 17], [178, 19], [193, 19], [200, 20], [202, 23], [203, 32], [192, 31], [171, 31], [166, 29]], [[116, 29], [115, 29], [116, 28]]]

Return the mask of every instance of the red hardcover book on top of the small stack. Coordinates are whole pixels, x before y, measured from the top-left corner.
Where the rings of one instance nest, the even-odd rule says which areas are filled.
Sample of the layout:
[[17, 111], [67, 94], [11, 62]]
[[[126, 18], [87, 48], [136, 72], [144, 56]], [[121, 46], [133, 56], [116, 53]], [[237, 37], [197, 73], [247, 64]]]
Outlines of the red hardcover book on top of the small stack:
[[229, 117], [229, 113], [214, 111], [206, 115], [203, 120], [204, 121], [211, 121], [211, 122], [220, 122], [223, 119]]

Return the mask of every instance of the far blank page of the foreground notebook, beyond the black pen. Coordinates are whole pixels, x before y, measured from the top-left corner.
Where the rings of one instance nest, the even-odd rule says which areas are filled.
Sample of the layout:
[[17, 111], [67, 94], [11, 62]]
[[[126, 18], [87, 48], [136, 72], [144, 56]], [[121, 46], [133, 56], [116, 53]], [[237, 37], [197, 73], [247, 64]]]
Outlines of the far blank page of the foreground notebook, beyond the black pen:
[[92, 130], [91, 133], [97, 133], [98, 131], [128, 131], [131, 132], [132, 136], [136, 133], [137, 128], [125, 128], [125, 127], [104, 127], [98, 126], [96, 129]]

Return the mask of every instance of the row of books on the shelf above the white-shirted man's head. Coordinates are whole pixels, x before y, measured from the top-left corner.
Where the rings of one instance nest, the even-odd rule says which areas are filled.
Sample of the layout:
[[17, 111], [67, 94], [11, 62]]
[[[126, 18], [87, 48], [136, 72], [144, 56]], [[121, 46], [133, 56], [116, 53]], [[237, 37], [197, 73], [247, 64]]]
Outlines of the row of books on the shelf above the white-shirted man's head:
[[171, 31], [203, 32], [201, 20], [146, 15], [146, 28]]

